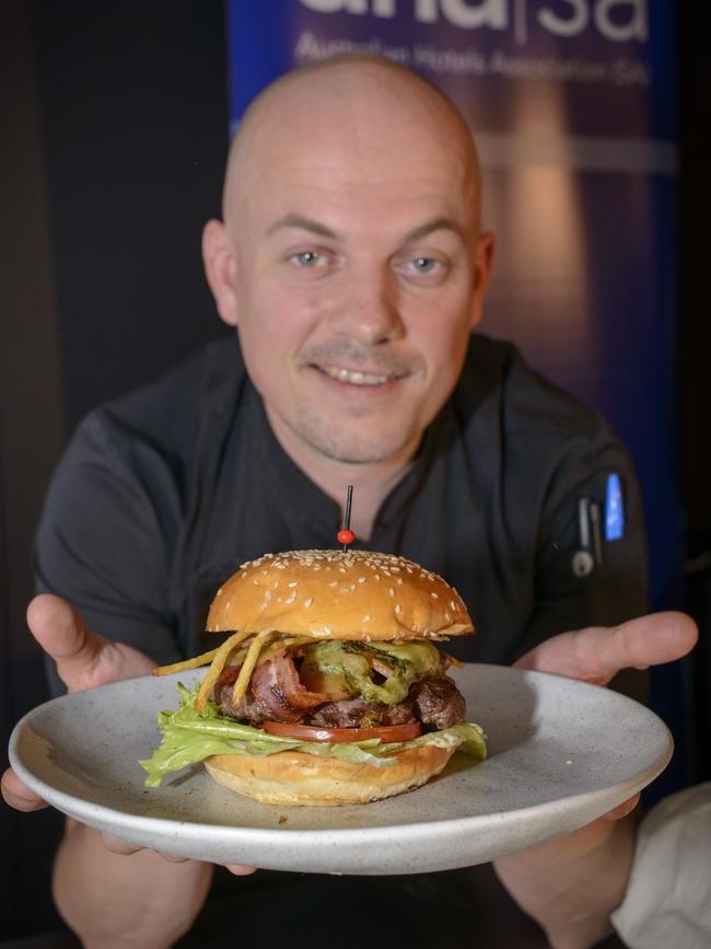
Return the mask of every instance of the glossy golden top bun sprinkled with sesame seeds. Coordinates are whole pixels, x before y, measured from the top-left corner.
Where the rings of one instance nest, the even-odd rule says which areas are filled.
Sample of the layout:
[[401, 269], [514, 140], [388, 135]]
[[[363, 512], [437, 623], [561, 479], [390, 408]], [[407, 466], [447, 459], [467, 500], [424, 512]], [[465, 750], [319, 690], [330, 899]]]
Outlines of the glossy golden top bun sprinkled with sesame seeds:
[[474, 626], [453, 587], [404, 557], [290, 551], [243, 564], [218, 590], [207, 629], [403, 641], [459, 636]]

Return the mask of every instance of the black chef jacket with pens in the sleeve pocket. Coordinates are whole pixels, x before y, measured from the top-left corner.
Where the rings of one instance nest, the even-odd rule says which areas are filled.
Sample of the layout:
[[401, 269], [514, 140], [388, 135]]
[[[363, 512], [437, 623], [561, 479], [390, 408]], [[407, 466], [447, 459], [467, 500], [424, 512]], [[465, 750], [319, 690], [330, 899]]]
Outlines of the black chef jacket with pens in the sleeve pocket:
[[[580, 577], [579, 500], [604, 508], [611, 473], [626, 531]], [[338, 528], [338, 506], [279, 445], [229, 338], [80, 425], [37, 533], [37, 586], [165, 663], [210, 648], [207, 609], [240, 564], [337, 546]], [[509, 663], [556, 633], [646, 611], [627, 452], [596, 412], [482, 335], [372, 536], [354, 546], [409, 557], [456, 587], [478, 635], [447, 648], [466, 660]]]

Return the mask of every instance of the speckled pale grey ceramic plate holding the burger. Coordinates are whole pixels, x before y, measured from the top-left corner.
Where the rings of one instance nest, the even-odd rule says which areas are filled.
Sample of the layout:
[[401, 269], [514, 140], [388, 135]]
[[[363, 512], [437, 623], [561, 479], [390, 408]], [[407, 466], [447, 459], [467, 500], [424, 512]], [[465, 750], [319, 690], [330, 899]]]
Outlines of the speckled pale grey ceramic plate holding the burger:
[[261, 805], [202, 765], [143, 787], [180, 679], [144, 676], [40, 705], [10, 761], [60, 811], [137, 844], [218, 864], [335, 873], [416, 873], [485, 863], [582, 826], [649, 784], [672, 755], [666, 726], [608, 690], [539, 672], [468, 666], [454, 678], [489, 759], [455, 754], [423, 788], [341, 808]]

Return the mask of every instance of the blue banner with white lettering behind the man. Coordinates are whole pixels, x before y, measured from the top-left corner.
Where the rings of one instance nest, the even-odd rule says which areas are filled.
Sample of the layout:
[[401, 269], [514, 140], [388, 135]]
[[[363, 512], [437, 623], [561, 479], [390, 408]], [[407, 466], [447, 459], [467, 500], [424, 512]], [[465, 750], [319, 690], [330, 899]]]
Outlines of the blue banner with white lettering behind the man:
[[366, 50], [470, 124], [499, 252], [482, 329], [634, 458], [655, 607], [677, 602], [676, 15], [665, 0], [231, 0], [232, 123], [293, 66]]

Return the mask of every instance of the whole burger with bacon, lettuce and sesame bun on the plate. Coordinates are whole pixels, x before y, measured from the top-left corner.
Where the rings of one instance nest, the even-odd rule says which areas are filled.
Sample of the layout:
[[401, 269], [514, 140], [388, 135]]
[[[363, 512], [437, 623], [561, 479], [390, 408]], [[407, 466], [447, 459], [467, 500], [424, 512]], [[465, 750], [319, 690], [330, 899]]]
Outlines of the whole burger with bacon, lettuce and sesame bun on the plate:
[[142, 761], [145, 785], [203, 762], [221, 785], [277, 805], [354, 805], [413, 790], [459, 749], [486, 756], [438, 648], [474, 633], [458, 593], [411, 560], [291, 551], [243, 564], [217, 592], [217, 649]]

